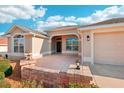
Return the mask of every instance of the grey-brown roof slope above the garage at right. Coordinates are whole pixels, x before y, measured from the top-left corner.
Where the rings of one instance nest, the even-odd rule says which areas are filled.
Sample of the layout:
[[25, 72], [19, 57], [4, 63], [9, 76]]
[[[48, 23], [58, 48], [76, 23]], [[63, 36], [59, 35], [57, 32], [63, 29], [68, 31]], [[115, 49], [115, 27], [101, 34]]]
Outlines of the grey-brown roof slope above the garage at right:
[[89, 25], [82, 25], [82, 26], [79, 26], [79, 28], [89, 27], [89, 26], [115, 24], [115, 23], [124, 23], [124, 18], [112, 18], [112, 19], [108, 19], [105, 21], [101, 21], [101, 22], [97, 22], [97, 23], [93, 23], [93, 24], [89, 24]]

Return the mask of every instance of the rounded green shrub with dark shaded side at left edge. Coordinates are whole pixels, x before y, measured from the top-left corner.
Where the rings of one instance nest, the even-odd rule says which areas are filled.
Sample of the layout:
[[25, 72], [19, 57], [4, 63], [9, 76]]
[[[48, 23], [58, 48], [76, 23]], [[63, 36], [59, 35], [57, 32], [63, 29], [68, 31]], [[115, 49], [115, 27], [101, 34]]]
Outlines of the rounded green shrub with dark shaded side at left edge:
[[12, 74], [12, 66], [9, 64], [8, 60], [0, 61], [0, 72], [4, 72], [5, 77], [10, 76]]

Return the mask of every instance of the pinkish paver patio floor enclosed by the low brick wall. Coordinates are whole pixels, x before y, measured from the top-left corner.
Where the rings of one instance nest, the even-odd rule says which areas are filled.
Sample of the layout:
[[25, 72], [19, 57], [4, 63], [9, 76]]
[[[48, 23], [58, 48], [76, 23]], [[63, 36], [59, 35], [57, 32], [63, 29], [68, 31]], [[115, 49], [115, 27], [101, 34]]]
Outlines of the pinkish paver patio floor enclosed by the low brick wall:
[[77, 55], [48, 55], [37, 60], [36, 66], [60, 71], [66, 71], [70, 64], [75, 64]]

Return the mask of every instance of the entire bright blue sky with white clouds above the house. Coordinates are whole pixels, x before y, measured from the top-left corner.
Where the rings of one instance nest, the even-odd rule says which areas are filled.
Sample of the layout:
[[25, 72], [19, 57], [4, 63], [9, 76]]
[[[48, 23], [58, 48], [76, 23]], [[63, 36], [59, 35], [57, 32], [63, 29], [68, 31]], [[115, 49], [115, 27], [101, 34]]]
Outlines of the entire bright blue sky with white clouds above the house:
[[0, 6], [0, 35], [14, 24], [38, 31], [66, 26], [86, 25], [124, 17], [124, 6], [108, 5], [43, 5]]

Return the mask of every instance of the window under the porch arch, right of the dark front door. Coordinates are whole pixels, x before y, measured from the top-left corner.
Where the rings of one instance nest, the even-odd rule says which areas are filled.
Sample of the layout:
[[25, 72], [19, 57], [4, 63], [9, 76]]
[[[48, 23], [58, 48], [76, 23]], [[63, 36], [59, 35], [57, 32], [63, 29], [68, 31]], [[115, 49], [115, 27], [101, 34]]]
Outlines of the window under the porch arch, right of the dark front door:
[[66, 50], [78, 51], [78, 39], [77, 38], [66, 39]]

